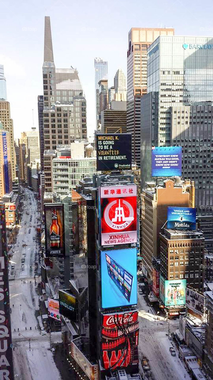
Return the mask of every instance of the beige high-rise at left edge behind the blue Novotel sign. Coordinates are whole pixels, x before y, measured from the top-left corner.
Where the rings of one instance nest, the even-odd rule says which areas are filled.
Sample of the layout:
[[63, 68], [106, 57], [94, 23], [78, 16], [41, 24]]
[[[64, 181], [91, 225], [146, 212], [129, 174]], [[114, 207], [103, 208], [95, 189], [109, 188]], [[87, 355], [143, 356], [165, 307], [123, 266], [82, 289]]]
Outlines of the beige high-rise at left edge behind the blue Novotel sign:
[[16, 153], [13, 135], [13, 119], [10, 117], [10, 106], [8, 101], [0, 100], [0, 120], [4, 130], [9, 132], [12, 181], [14, 181], [16, 178]]

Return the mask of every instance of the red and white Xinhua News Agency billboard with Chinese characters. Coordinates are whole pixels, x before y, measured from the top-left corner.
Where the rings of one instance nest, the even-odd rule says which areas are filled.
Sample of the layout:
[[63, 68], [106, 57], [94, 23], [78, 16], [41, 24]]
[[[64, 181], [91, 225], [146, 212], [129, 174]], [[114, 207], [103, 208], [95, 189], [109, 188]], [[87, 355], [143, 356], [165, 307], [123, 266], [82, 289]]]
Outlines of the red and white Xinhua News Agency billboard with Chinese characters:
[[137, 242], [137, 186], [100, 186], [101, 245]]

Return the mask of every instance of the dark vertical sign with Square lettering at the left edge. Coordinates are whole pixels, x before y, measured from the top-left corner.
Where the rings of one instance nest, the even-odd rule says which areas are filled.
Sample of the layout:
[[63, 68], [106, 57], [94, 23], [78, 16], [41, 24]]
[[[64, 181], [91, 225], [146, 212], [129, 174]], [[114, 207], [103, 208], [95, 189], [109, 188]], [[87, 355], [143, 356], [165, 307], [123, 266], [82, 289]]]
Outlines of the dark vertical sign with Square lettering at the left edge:
[[0, 203], [0, 380], [12, 380], [13, 350], [5, 225], [5, 206]]

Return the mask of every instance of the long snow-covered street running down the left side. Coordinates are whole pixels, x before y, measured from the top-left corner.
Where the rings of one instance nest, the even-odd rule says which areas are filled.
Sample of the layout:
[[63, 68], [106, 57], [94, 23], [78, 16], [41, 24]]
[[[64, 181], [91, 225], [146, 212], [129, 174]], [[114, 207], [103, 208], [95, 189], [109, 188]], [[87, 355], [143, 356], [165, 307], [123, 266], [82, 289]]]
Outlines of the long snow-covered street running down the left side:
[[[39, 296], [34, 283], [38, 208], [33, 192], [27, 188], [24, 189], [23, 203], [21, 228], [12, 258], [15, 280], [9, 281], [14, 373], [22, 380], [60, 380], [61, 375], [50, 351], [50, 336], [38, 329], [35, 316], [35, 310], [39, 310]], [[22, 247], [23, 244], [26, 246]], [[51, 341], [61, 341], [61, 333], [52, 333]]]

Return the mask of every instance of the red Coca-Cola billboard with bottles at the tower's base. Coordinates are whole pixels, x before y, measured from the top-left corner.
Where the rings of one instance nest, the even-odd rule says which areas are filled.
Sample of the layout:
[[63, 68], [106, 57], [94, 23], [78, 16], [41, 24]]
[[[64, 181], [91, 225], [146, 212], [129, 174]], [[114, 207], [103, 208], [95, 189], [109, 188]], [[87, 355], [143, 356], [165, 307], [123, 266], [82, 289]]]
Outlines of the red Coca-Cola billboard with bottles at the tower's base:
[[138, 311], [102, 314], [101, 355], [104, 369], [138, 363]]

